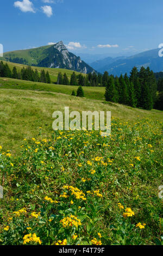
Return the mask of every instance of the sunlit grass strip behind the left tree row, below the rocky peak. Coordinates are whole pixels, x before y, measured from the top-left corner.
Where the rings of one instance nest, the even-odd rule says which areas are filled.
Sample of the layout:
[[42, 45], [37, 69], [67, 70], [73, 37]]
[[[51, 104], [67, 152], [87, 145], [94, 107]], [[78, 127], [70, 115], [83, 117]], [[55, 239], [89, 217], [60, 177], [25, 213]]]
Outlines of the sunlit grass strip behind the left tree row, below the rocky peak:
[[[21, 70], [24, 67], [26, 67], [27, 65], [23, 65], [23, 64], [18, 64], [18, 63], [12, 63], [12, 62], [5, 62], [3, 61], [4, 63], [8, 63], [9, 65], [9, 68], [12, 70], [14, 68], [14, 66], [16, 66], [16, 69], [17, 70]], [[68, 70], [68, 69], [53, 69], [53, 68], [40, 68], [40, 67], [37, 67], [37, 66], [32, 66], [32, 68], [35, 70], [37, 69], [38, 72], [40, 73], [42, 69], [44, 69], [45, 71], [48, 70], [49, 72], [49, 75], [51, 77], [51, 81], [52, 83], [55, 83], [57, 82], [57, 77], [58, 77], [58, 73], [61, 72], [62, 74], [66, 73], [68, 78], [70, 79], [71, 78], [71, 74], [73, 73], [72, 70]], [[76, 71], [75, 71], [76, 72]], [[76, 74], [79, 74], [79, 72], [76, 72]], [[85, 75], [85, 74], [83, 74]]]

